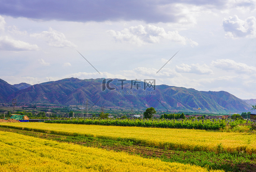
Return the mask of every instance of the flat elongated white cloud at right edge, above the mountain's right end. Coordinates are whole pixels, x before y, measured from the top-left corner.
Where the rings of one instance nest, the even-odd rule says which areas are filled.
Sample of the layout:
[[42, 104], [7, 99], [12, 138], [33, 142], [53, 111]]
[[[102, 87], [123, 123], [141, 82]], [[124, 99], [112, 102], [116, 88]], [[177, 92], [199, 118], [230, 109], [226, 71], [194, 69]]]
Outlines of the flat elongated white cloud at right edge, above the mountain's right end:
[[237, 73], [252, 73], [256, 72], [256, 67], [248, 66], [245, 63], [237, 63], [230, 59], [219, 59], [216, 61], [212, 61], [213, 66], [217, 68], [221, 68], [225, 71], [234, 71]]

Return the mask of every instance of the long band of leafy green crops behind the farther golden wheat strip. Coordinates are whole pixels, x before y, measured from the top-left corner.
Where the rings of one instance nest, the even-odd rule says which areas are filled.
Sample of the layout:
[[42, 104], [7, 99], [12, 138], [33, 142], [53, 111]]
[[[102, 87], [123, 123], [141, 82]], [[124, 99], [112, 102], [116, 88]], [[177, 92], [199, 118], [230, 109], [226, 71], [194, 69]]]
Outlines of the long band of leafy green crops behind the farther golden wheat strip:
[[[85, 125], [106, 125], [106, 126], [129, 126], [129, 127], [154, 127], [154, 128], [183, 128], [183, 129], [204, 129], [217, 130], [229, 125], [231, 128], [246, 123], [245, 120], [142, 120], [142, 119], [73, 119], [54, 120], [45, 123], [57, 124], [85, 124]], [[248, 121], [247, 124], [253, 123]]]

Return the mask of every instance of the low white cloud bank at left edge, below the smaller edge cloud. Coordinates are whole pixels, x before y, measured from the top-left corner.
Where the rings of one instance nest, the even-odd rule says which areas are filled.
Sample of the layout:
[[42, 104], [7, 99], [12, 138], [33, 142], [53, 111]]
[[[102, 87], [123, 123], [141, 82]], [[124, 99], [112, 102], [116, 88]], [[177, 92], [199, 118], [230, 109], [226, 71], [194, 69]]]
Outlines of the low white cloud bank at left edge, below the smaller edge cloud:
[[0, 49], [9, 51], [27, 51], [27, 50], [38, 50], [37, 45], [31, 45], [29, 43], [13, 40], [8, 36], [0, 37]]

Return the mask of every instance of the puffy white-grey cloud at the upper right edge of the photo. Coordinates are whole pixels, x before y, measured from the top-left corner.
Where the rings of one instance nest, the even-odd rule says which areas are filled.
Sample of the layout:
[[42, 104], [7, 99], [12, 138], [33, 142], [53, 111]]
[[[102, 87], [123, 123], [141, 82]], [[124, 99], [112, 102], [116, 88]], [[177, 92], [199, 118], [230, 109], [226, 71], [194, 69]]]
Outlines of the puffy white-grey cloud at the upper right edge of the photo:
[[256, 18], [254, 16], [241, 20], [237, 15], [234, 17], [224, 18], [224, 30], [227, 32], [226, 37], [255, 37], [256, 36]]

